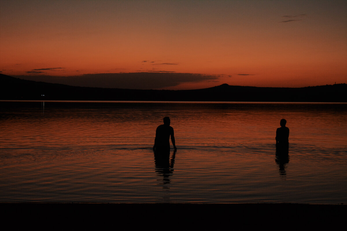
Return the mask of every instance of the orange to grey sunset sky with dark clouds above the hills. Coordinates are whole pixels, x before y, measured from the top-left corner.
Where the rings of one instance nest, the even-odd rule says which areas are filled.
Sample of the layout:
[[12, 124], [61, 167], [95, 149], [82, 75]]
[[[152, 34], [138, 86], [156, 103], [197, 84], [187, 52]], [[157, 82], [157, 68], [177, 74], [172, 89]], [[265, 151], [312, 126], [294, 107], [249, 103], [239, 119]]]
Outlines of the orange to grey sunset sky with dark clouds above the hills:
[[134, 89], [346, 83], [347, 1], [1, 0], [0, 71]]

